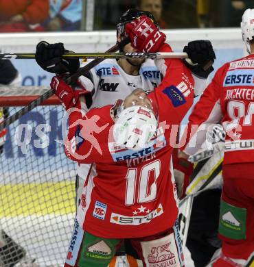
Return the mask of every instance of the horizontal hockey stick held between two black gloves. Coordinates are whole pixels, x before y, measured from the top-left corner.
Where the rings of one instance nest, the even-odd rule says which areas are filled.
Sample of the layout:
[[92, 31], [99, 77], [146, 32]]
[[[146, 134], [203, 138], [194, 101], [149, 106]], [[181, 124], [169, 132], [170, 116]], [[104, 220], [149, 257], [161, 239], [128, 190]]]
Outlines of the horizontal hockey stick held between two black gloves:
[[[63, 58], [187, 58], [187, 53], [158, 52], [158, 53], [65, 53]], [[34, 59], [34, 53], [0, 53], [0, 60], [27, 60]]]

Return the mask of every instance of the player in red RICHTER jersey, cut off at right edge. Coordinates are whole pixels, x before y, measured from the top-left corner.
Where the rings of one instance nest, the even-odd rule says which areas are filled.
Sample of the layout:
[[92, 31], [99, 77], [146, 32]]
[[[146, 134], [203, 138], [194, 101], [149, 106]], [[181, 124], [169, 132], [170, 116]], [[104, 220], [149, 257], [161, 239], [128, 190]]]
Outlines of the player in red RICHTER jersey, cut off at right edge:
[[[245, 266], [254, 251], [254, 10], [242, 16], [242, 38], [250, 55], [218, 69], [189, 117], [186, 155], [205, 140], [204, 129], [220, 119], [224, 179], [219, 233], [222, 253], [209, 266]], [[194, 131], [193, 126], [199, 126]], [[203, 129], [203, 130], [202, 130]], [[185, 137], [183, 137], [185, 138]]]

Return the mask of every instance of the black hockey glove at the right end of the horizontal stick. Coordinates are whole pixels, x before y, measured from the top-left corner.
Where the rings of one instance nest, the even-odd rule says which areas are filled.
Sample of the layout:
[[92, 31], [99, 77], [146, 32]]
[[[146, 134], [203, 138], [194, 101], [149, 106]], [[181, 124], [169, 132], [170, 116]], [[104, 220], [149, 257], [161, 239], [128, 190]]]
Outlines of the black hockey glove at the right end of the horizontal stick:
[[194, 75], [206, 79], [213, 71], [213, 66], [209, 65], [213, 64], [216, 55], [209, 40], [188, 42], [188, 45], [183, 48], [183, 52], [186, 52], [189, 57], [183, 61]]

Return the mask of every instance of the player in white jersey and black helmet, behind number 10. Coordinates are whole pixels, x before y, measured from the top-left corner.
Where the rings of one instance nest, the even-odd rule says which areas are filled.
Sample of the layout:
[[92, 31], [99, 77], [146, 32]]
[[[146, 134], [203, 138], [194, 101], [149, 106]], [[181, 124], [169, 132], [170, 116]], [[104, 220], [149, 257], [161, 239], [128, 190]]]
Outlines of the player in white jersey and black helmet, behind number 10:
[[[123, 42], [120, 41], [126, 39], [126, 24], [144, 14], [149, 16], [154, 24], [157, 25], [150, 12], [143, 12], [141, 10], [130, 9], [124, 12], [119, 18], [119, 22], [117, 23], [117, 40], [119, 42], [120, 51], [135, 51], [130, 43], [126, 44], [125, 42], [123, 44]], [[60, 47], [62, 47], [62, 49], [60, 49]], [[211, 42], [206, 40], [189, 42], [188, 45], [185, 46], [185, 49], [184, 51], [188, 53], [189, 60], [192, 60], [188, 60], [188, 62], [185, 61], [185, 64], [192, 71], [195, 81], [194, 91], [195, 94], [198, 95], [206, 86], [205, 78], [213, 70], [212, 67], [209, 67], [204, 71], [203, 66], [207, 66], [207, 62], [209, 61], [212, 63], [215, 55]], [[62, 62], [58, 57], [63, 51], [65, 51], [65, 49], [63, 49], [60, 43], [47, 44], [46, 42], [40, 42], [36, 47], [36, 61], [46, 71], [59, 73], [61, 68], [58, 68], [58, 66], [61, 65]], [[192, 64], [192, 62], [194, 62], [194, 64]], [[68, 66], [70, 68], [69, 72], [73, 73], [73, 63], [70, 63]], [[76, 64], [76, 66], [78, 66], [78, 64]], [[66, 67], [64, 70], [66, 71]], [[80, 77], [80, 82], [86, 90], [92, 90], [93, 97], [90, 108], [93, 108], [113, 104], [117, 99], [124, 99], [132, 90], [135, 90], [135, 88], [153, 90], [154, 87], [157, 87], [161, 83], [161, 76], [153, 60], [107, 59], [95, 66], [87, 75]], [[106, 85], [114, 85], [114, 88], [112, 88], [113, 90], [109, 87], [107, 88]], [[87, 110], [86, 106], [83, 106], [84, 110]], [[78, 164], [78, 175], [76, 179], [77, 205], [80, 203], [82, 185], [84, 184], [88, 172], [89, 164]], [[126, 243], [128, 243], [128, 240], [125, 240], [126, 253], [137, 257], [137, 253]], [[122, 248], [119, 249], [118, 254], [122, 254]], [[129, 256], [128, 259], [130, 259]], [[114, 266], [117, 266], [117, 263]]]

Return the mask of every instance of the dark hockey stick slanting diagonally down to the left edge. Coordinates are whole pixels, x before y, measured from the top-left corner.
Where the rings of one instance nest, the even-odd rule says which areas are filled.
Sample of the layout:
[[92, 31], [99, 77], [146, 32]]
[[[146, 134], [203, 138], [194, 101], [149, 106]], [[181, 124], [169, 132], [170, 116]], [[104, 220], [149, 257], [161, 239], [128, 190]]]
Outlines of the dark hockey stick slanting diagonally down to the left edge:
[[[115, 52], [118, 49], [119, 49], [118, 44], [115, 44], [113, 47], [108, 49], [108, 51], [106, 51], [106, 53]], [[76, 81], [76, 79], [78, 79], [78, 77], [80, 77], [86, 71], [89, 71], [91, 68], [93, 68], [94, 66], [96, 66], [97, 64], [102, 62], [103, 60], [104, 60], [104, 58], [95, 58], [95, 60], [89, 62], [86, 66], [84, 66], [82, 68], [79, 68], [77, 73], [74, 73], [73, 75], [71, 75], [71, 77], [66, 79], [67, 84], [70, 84], [71, 81]], [[54, 89], [49, 89], [47, 92], [42, 94], [41, 97], [38, 97], [37, 99], [32, 101], [30, 104], [28, 104], [25, 107], [21, 108], [21, 110], [19, 110], [18, 112], [14, 113], [10, 117], [8, 117], [5, 120], [3, 120], [3, 122], [0, 124], [0, 131], [3, 131], [3, 129], [5, 127], [8, 127], [11, 123], [14, 123], [14, 121], [16, 121], [19, 118], [21, 118], [21, 116], [23, 116], [27, 112], [30, 112], [31, 110], [33, 110], [34, 107], [37, 107], [38, 105], [41, 105], [41, 103], [43, 103], [43, 101], [45, 101], [46, 99], [51, 97], [53, 94], [54, 94]]]

